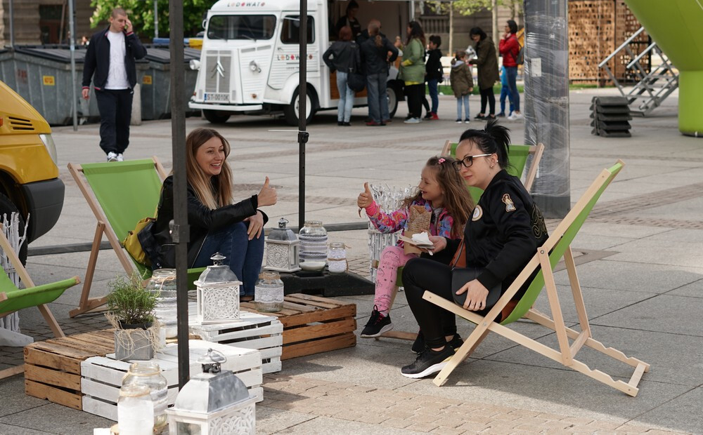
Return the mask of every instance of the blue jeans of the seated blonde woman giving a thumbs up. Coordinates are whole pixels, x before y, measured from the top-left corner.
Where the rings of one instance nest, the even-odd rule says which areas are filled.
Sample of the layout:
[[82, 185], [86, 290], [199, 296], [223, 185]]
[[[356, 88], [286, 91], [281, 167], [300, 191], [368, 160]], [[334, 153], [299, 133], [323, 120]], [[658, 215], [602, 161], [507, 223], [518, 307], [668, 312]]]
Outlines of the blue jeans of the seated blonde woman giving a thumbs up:
[[207, 233], [202, 242], [200, 253], [195, 258], [193, 267], [212, 265], [210, 257], [221, 253], [229, 262], [229, 268], [243, 282], [240, 295], [254, 295], [254, 284], [264, 260], [264, 233], [257, 239], [249, 240], [247, 222], [236, 222], [228, 227]]

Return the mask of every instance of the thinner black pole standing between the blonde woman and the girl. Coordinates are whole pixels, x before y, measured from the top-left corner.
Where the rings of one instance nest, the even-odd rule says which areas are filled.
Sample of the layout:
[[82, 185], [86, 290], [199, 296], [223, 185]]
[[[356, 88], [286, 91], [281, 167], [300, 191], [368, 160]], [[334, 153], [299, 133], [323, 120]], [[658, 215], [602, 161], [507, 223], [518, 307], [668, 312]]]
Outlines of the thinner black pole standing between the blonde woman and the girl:
[[305, 224], [305, 131], [307, 113], [307, 0], [300, 0], [300, 33], [298, 65], [298, 228]]

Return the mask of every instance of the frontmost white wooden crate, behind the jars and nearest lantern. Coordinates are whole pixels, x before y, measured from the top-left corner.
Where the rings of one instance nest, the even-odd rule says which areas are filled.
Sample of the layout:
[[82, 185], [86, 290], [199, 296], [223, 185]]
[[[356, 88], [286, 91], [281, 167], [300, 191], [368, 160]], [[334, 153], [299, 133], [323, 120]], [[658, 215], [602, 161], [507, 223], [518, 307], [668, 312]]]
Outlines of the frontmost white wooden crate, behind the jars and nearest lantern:
[[[202, 372], [202, 366], [198, 363], [198, 359], [207, 352], [207, 349], [212, 348], [226, 357], [227, 361], [222, 365], [222, 368], [235, 373], [247, 386], [250, 395], [256, 396], [257, 402], [264, 400], [262, 359], [256, 349], [233, 347], [203, 340], [188, 340], [188, 347], [191, 354], [191, 376]], [[161, 367], [162, 375], [166, 378], [169, 388], [167, 403], [171, 406], [178, 395], [178, 346], [167, 344], [155, 355], [152, 361]], [[82, 398], [83, 410], [86, 413], [117, 421], [117, 398], [120, 396], [122, 378], [127, 374], [129, 365], [129, 361], [116, 360], [115, 354], [93, 356], [82, 361], [81, 390], [84, 394]]]

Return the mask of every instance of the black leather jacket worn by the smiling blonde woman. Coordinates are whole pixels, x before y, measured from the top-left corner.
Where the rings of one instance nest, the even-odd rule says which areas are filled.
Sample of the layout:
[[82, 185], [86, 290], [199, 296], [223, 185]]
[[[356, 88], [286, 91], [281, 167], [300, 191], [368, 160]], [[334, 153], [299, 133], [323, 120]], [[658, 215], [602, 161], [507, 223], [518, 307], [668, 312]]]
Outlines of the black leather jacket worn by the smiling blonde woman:
[[[191, 185], [188, 185], [188, 267], [193, 266], [195, 258], [198, 257], [202, 242], [205, 241], [205, 236], [211, 230], [221, 229], [227, 225], [236, 222], [241, 222], [247, 217], [257, 213], [258, 197], [253, 195], [249, 199], [245, 199], [236, 204], [210, 210], [201, 203], [198, 196], [195, 195], [195, 190]], [[174, 260], [174, 244], [171, 240], [169, 231], [169, 223], [174, 218], [174, 182], [173, 175], [164, 180], [164, 185], [161, 190], [159, 199], [159, 208], [155, 225], [152, 228], [152, 234], [156, 239], [156, 243], [160, 246], [158, 256], [160, 258], [151, 258], [152, 267], [154, 269], [160, 267], [175, 267]], [[269, 217], [264, 215], [264, 224], [268, 222]]]

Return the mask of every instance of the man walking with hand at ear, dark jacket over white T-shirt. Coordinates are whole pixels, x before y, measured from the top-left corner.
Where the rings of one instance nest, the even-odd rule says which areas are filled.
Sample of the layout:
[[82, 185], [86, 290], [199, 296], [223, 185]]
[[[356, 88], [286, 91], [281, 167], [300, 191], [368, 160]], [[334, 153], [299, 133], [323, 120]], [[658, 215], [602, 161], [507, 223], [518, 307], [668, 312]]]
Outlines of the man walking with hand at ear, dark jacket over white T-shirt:
[[129, 145], [129, 121], [136, 85], [134, 61], [146, 56], [127, 12], [112, 9], [110, 27], [93, 34], [83, 67], [83, 98], [90, 98], [90, 82], [100, 111], [100, 147], [108, 161], [122, 161]]

